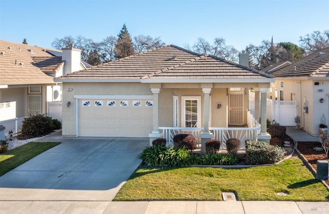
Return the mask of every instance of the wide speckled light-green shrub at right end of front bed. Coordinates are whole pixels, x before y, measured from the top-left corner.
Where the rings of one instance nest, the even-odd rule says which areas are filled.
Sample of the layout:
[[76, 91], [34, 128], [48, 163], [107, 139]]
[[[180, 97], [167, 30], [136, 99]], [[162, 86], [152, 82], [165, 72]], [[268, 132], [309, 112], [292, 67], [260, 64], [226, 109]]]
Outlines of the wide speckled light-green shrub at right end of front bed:
[[247, 163], [250, 165], [274, 164], [281, 161], [284, 150], [263, 141], [246, 141]]

